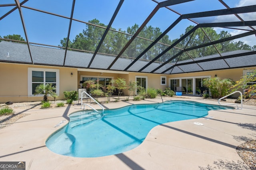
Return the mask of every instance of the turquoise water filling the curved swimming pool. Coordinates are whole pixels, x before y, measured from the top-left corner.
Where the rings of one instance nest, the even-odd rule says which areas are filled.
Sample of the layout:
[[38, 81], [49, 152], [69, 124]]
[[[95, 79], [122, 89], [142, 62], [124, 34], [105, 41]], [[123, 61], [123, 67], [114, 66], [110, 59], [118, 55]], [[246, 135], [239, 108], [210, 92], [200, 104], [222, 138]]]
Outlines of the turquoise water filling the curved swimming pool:
[[70, 115], [68, 125], [48, 138], [46, 146], [55, 153], [74, 157], [118, 154], [140, 145], [156, 125], [230, 108], [175, 100], [107, 109], [104, 113], [79, 111]]

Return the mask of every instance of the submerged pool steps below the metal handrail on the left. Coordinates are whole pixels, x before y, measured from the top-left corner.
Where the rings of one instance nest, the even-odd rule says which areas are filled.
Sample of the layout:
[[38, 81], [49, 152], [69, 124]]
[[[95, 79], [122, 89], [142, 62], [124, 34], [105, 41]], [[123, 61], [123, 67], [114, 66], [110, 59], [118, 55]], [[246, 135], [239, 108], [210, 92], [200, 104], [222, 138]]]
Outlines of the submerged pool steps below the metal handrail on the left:
[[77, 113], [76, 115], [72, 114], [70, 115], [69, 127], [73, 128], [78, 125], [82, 125], [84, 123], [88, 123], [90, 121], [100, 119], [102, 117], [103, 117], [103, 114], [101, 112], [96, 112], [96, 111]]

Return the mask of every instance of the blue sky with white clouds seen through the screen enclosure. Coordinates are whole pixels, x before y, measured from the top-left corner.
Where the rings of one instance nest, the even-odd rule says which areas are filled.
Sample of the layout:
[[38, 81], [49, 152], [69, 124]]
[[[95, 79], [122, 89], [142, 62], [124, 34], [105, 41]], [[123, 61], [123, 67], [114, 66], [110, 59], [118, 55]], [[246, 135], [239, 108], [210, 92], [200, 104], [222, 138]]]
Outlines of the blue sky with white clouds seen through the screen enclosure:
[[[160, 0], [159, 2], [164, 1]], [[22, 2], [22, 0], [20, 0]], [[224, 0], [231, 8], [247, 5], [255, 5], [256, 0]], [[76, 0], [73, 18], [76, 20], [86, 21], [97, 19], [101, 23], [108, 25], [119, 0]], [[15, 4], [14, 0], [1, 0], [0, 4]], [[132, 27], [135, 23], [139, 26], [146, 20], [152, 10], [156, 7], [156, 3], [152, 0], [124, 0], [112, 27], [115, 29], [126, 30]], [[28, 0], [24, 4], [31, 8], [56, 13], [62, 16], [70, 17], [72, 0]], [[0, 7], [0, 17], [13, 7]], [[194, 0], [185, 4], [177, 4], [170, 6], [173, 10], [180, 14], [188, 14], [194, 12], [203, 12], [204, 10], [220, 10], [225, 7], [218, 0]], [[67, 37], [69, 20], [49, 14], [44, 14], [27, 8], [22, 8], [24, 23], [28, 33], [28, 40], [34, 43], [42, 43], [49, 45], [60, 45], [60, 40]], [[242, 14], [246, 20], [255, 20], [256, 13], [248, 15]], [[177, 18], [178, 14], [171, 12], [167, 8], [160, 8], [148, 25], [159, 27], [163, 32]], [[234, 16], [200, 18], [194, 19], [199, 23], [213, 21], [233, 21], [237, 20]], [[179, 38], [185, 32], [189, 25], [196, 25], [192, 21], [182, 20], [169, 33], [170, 39]], [[84, 23], [72, 21], [70, 39], [74, 39], [76, 35], [86, 28]], [[229, 31], [231, 35], [242, 33], [243, 31], [235, 29], [214, 28], [217, 33], [220, 31]], [[10, 15], [0, 20], [0, 36], [19, 34], [25, 39], [20, 14], [15, 10]], [[250, 46], [256, 45], [255, 35], [238, 39], [244, 41]]]

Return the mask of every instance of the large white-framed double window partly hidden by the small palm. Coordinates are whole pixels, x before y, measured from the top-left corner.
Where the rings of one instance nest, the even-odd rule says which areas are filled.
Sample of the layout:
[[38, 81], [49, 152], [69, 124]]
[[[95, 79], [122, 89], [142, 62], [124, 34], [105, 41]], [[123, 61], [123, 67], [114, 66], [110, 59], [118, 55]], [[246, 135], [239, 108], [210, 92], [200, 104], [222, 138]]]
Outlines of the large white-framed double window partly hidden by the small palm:
[[58, 69], [28, 68], [28, 96], [34, 96], [36, 86], [39, 84], [52, 84], [56, 87], [55, 92], [60, 94], [60, 71]]

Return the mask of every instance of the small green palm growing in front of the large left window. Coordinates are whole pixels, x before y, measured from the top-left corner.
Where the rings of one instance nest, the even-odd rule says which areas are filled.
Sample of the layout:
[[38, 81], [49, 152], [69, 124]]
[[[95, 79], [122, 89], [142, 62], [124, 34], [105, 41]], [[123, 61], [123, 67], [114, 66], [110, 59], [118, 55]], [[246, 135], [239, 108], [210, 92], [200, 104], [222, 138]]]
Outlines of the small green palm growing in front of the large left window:
[[35, 90], [35, 94], [43, 94], [44, 95], [44, 102], [48, 101], [48, 95], [56, 98], [57, 94], [54, 92], [56, 88], [54, 86], [52, 86], [52, 84], [40, 84], [38, 86], [36, 86], [36, 90]]

